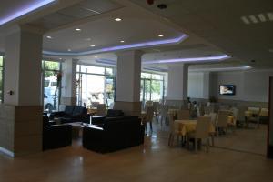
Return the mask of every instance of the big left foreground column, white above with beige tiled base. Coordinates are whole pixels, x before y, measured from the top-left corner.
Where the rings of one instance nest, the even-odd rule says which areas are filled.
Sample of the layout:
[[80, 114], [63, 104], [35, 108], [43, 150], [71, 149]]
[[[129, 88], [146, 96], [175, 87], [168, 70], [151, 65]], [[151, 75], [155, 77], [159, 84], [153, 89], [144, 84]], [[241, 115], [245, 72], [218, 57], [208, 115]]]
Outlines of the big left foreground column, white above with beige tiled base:
[[42, 32], [29, 26], [5, 36], [0, 150], [12, 157], [42, 150], [42, 43]]

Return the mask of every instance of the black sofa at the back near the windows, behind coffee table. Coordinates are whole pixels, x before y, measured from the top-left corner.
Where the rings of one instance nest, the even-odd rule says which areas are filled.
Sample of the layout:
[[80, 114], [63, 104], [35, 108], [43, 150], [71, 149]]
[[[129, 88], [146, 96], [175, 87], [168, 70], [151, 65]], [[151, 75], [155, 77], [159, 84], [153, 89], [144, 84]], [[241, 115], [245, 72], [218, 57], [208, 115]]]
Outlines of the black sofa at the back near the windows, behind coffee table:
[[87, 114], [87, 109], [84, 106], [66, 106], [65, 111], [51, 113], [49, 119], [53, 120], [54, 118], [59, 118], [62, 124], [73, 122], [89, 123], [90, 120], [90, 116]]

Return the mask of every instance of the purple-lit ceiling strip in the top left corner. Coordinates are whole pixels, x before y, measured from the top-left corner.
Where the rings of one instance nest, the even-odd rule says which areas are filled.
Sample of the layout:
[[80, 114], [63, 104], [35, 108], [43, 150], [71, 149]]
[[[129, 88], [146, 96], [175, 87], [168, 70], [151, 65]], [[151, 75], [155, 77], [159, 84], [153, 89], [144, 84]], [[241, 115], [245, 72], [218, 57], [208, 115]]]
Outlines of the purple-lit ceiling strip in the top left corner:
[[50, 4], [50, 3], [54, 2], [54, 1], [56, 1], [56, 0], [44, 0], [44, 1], [40, 0], [40, 1], [37, 1], [37, 2], [35, 2], [33, 4], [31, 4], [31, 5], [26, 5], [25, 8], [16, 10], [16, 12], [14, 14], [7, 15], [4, 18], [1, 18], [0, 19], [0, 25], [4, 25], [5, 23], [10, 22], [10, 21], [14, 20], [17, 17], [20, 17], [22, 15], [26, 15], [26, 14], [34, 11], [35, 9], [38, 9], [38, 8], [44, 6], [44, 5], [48, 5], [48, 4]]

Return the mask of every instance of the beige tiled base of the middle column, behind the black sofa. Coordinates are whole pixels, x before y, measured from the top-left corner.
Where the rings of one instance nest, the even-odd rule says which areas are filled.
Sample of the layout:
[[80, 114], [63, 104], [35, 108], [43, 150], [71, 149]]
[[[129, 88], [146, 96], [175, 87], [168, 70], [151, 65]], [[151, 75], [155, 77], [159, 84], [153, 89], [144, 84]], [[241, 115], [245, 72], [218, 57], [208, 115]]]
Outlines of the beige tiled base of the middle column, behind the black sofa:
[[122, 110], [125, 116], [141, 116], [141, 102], [116, 101], [114, 109]]

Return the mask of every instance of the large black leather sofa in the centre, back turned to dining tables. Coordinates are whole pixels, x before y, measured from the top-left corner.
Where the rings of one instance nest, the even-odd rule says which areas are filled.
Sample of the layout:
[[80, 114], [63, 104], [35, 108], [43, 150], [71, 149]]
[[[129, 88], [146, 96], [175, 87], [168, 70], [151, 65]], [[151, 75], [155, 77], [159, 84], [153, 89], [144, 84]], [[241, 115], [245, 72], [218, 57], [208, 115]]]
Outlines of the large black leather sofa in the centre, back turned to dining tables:
[[106, 118], [103, 126], [84, 126], [83, 147], [99, 152], [134, 147], [144, 142], [144, 126], [138, 116]]

